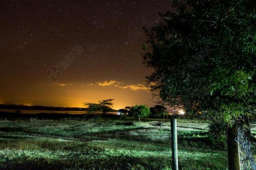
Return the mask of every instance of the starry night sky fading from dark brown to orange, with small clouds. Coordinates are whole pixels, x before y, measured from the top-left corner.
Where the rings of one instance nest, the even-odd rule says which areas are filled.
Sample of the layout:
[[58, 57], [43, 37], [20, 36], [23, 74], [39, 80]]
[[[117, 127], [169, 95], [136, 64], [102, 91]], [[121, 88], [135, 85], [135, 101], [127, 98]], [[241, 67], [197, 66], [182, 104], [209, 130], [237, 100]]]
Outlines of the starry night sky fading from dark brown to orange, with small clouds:
[[0, 8], [0, 103], [155, 105], [142, 26], [161, 21], [168, 0], [5, 0]]

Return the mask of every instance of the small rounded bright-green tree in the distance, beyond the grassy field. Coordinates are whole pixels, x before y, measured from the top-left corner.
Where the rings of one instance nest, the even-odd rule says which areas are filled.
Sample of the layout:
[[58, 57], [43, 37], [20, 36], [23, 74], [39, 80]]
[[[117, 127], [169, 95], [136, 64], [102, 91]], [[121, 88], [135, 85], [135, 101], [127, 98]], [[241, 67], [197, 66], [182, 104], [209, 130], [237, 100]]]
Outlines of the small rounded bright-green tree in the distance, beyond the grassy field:
[[138, 117], [139, 121], [141, 117], [148, 117], [150, 115], [150, 109], [146, 105], [136, 105], [130, 109], [130, 115]]

